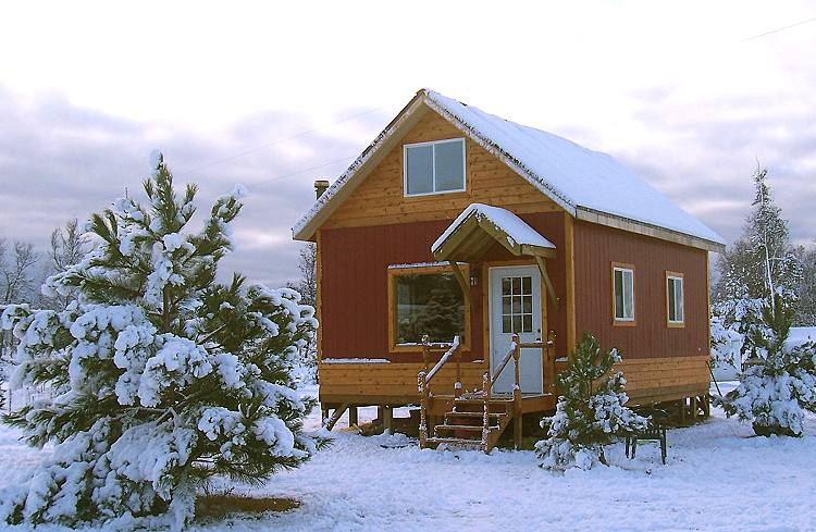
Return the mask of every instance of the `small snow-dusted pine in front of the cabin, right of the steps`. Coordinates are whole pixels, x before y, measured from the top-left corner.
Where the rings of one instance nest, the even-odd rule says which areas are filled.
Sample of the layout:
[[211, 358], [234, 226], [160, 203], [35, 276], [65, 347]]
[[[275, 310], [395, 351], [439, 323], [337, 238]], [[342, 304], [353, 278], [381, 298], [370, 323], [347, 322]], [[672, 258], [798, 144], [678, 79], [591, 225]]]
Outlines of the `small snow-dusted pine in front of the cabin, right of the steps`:
[[613, 372], [620, 361], [617, 349], [602, 351], [597, 339], [584, 333], [570, 357], [569, 367], [558, 373], [561, 396], [555, 416], [541, 421], [549, 426], [546, 440], [535, 444], [542, 466], [590, 469], [606, 465], [604, 446], [646, 428], [647, 418], [626, 406], [623, 373]]

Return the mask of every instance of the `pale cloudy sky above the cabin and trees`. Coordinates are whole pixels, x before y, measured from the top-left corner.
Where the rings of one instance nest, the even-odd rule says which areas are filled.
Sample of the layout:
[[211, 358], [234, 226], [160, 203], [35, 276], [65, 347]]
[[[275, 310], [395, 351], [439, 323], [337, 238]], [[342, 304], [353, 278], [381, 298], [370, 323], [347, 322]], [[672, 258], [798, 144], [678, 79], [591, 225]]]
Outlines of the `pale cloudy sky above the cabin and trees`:
[[[0, 7], [0, 237], [249, 188], [225, 270], [297, 276], [289, 228], [422, 87], [610, 153], [729, 242], [770, 185], [816, 237], [816, 2], [15, 2]], [[540, 5], [541, 4], [541, 5]]]

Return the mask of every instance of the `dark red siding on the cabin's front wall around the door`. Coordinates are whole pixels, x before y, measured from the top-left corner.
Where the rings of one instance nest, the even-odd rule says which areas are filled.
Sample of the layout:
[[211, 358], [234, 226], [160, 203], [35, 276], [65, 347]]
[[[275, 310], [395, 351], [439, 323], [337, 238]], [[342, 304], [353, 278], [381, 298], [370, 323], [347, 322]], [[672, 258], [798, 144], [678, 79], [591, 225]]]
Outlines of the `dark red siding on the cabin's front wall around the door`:
[[[564, 249], [564, 214], [536, 213], [523, 218], [534, 228]], [[388, 352], [390, 264], [433, 261], [431, 244], [450, 224], [448, 221], [418, 222], [366, 227], [322, 230], [320, 259], [322, 343], [324, 358], [387, 358], [395, 362], [421, 360], [420, 354]], [[514, 259], [498, 245], [490, 250], [485, 261]], [[564, 258], [547, 261], [556, 293], [564, 299]], [[483, 316], [482, 285], [471, 293], [471, 355], [482, 359]], [[559, 342], [566, 339], [564, 306], [559, 311], [549, 308], [549, 327], [555, 329]]]

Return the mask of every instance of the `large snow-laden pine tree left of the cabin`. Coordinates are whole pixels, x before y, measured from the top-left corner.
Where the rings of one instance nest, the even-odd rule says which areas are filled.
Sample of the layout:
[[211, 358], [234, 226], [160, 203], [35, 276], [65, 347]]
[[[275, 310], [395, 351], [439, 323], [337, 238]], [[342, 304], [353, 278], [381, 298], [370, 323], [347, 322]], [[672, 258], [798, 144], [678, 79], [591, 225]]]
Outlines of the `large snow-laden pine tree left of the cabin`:
[[290, 289], [215, 282], [243, 187], [184, 232], [196, 187], [180, 198], [161, 156], [153, 168], [147, 206], [122, 198], [95, 214], [96, 248], [47, 281], [77, 301], [2, 313], [20, 339], [14, 383], [63, 391], [5, 418], [32, 445], [54, 444], [0, 494], [8, 522], [178, 530], [202, 482], [262, 482], [322, 443], [302, 432], [312, 404], [288, 374], [313, 309]]

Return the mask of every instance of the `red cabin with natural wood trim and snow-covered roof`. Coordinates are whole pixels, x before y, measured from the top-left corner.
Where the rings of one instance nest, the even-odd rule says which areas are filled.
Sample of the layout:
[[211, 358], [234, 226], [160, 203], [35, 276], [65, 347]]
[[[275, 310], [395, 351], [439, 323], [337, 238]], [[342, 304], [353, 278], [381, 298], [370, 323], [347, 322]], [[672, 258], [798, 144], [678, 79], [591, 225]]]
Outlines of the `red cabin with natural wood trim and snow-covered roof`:
[[316, 189], [293, 235], [317, 243], [330, 426], [415, 405], [423, 446], [518, 444], [586, 331], [622, 352], [631, 404], [706, 413], [725, 243], [611, 157], [422, 89]]

